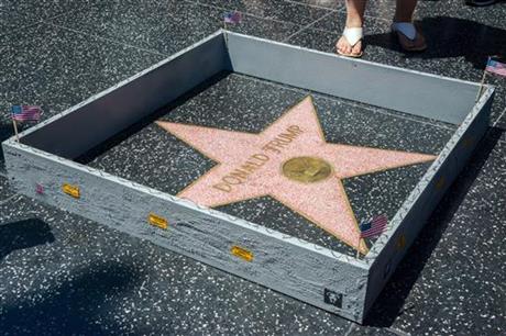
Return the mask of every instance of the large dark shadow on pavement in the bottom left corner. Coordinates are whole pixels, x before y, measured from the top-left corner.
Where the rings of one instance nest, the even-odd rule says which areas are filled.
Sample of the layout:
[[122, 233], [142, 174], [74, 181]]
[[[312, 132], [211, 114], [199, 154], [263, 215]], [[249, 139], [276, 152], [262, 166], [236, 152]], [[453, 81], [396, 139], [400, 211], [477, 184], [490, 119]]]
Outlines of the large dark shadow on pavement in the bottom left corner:
[[110, 305], [106, 300], [131, 292], [141, 278], [129, 264], [90, 266], [72, 280], [37, 292], [36, 299], [8, 302], [0, 314], [0, 331], [8, 335], [118, 334], [118, 323], [105, 316]]

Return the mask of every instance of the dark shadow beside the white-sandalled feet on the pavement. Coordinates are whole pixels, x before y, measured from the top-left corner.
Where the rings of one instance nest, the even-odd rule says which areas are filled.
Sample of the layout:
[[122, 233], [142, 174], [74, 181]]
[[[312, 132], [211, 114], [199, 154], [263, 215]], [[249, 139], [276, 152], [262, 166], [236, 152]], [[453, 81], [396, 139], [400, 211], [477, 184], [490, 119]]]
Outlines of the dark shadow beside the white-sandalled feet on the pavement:
[[[488, 56], [506, 55], [506, 31], [475, 21], [435, 16], [418, 21], [428, 48], [422, 53], [407, 53], [414, 58], [451, 58], [463, 56], [474, 68], [483, 69]], [[396, 37], [388, 33], [372, 34], [365, 37], [367, 45], [402, 52]]]

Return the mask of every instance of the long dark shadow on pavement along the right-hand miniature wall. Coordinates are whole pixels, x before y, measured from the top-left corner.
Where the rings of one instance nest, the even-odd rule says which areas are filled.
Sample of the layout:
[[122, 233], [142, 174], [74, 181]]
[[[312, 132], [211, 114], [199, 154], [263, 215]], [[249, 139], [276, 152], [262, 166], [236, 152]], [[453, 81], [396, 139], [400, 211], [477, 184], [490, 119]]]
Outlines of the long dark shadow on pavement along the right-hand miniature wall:
[[409, 292], [503, 133], [504, 131], [497, 127], [488, 128], [466, 168], [446, 192], [426, 226], [376, 299], [367, 313], [364, 325], [391, 327], [398, 316], [413, 309], [413, 306], [405, 305]]

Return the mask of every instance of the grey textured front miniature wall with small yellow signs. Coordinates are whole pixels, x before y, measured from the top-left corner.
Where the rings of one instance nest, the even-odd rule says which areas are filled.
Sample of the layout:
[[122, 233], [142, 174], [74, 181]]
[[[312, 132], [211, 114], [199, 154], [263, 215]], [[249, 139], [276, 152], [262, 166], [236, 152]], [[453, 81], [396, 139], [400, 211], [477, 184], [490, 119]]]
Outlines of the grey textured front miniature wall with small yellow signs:
[[[264, 284], [323, 310], [362, 321], [367, 269], [353, 258], [336, 258], [326, 248], [266, 229], [218, 211], [198, 209], [163, 192], [81, 166], [14, 141], [3, 143], [9, 178], [16, 191], [79, 214], [132, 236]], [[44, 186], [44, 194], [35, 186]], [[80, 188], [74, 199], [64, 183]], [[151, 213], [168, 221], [167, 229], [150, 225]], [[230, 253], [241, 246], [245, 261]], [[324, 292], [342, 295], [326, 303]]]

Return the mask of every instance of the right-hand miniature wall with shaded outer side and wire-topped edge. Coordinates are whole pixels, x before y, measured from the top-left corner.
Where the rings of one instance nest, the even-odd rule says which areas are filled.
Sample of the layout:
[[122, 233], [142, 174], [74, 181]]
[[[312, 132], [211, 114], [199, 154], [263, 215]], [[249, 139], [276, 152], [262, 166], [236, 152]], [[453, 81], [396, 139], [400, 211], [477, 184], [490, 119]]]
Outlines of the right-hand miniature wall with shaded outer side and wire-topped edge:
[[476, 107], [391, 221], [392, 232], [376, 240], [367, 255], [365, 261], [371, 262], [371, 268], [365, 314], [487, 131], [493, 94], [494, 88], [486, 88]]

